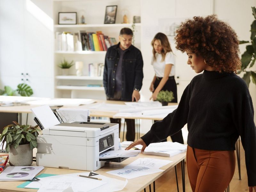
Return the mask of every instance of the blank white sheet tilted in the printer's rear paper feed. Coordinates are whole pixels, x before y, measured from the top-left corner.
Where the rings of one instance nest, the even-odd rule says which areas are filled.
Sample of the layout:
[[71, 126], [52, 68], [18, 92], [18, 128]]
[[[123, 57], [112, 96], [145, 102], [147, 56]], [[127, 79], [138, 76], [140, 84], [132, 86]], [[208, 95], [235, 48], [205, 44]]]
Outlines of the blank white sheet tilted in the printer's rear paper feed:
[[35, 107], [30, 109], [44, 129], [49, 128], [50, 126], [60, 124], [57, 117], [54, 115], [52, 109], [48, 105], [43, 105], [40, 107]]

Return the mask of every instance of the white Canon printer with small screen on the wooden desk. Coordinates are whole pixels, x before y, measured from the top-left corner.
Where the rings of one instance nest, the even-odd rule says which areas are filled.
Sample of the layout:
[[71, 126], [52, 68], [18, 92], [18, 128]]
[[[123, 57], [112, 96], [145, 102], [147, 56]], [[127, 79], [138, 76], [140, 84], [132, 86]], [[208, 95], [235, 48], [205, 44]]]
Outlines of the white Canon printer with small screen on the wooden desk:
[[[49, 116], [53, 114], [49, 106], [31, 110], [40, 124], [52, 124], [47, 121], [47, 116], [56, 123], [52, 115]], [[37, 166], [96, 171], [106, 162], [99, 160], [100, 153], [118, 150], [118, 124], [73, 122], [43, 128], [43, 134], [37, 136]], [[122, 159], [107, 161], [120, 162]]]

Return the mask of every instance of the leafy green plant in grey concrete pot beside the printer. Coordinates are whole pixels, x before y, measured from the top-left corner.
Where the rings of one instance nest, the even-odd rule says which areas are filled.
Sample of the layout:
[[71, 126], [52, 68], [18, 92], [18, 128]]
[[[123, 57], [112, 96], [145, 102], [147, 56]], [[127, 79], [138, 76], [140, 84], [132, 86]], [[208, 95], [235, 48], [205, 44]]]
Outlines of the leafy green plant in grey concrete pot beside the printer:
[[12, 166], [29, 166], [33, 162], [33, 148], [37, 147], [36, 137], [38, 125], [32, 127], [30, 125], [20, 125], [13, 121], [14, 124], [4, 127], [0, 135], [2, 148], [6, 142], [5, 150], [9, 153], [9, 164]]

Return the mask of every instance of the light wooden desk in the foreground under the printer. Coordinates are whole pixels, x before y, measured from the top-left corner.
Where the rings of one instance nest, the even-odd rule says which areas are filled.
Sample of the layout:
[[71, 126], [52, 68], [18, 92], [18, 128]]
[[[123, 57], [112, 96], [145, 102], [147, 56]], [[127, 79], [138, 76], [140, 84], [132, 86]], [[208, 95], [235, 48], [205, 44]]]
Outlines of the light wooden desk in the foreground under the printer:
[[[122, 169], [125, 165], [132, 163], [137, 158], [155, 158], [155, 159], [164, 159], [164, 160], [171, 160], [173, 161], [170, 164], [167, 164], [160, 169], [164, 170], [163, 172], [158, 172], [150, 175], [145, 175], [142, 177], [137, 177], [134, 179], [129, 179], [127, 185], [122, 190], [123, 192], [140, 192], [144, 188], [146, 188], [149, 184], [154, 182], [156, 179], [161, 177], [164, 173], [168, 172], [170, 169], [172, 169], [176, 164], [183, 163], [184, 165], [184, 159], [186, 157], [186, 152], [180, 153], [173, 157], [164, 157], [164, 156], [153, 156], [153, 155], [147, 155], [147, 154], [139, 154], [136, 157], [130, 157], [126, 160], [124, 160], [121, 163], [110, 163], [105, 164], [104, 167], [100, 168], [96, 172], [104, 175], [106, 177], [115, 178], [118, 180], [125, 180], [125, 178], [118, 177], [115, 175], [108, 174], [106, 172], [116, 170], [116, 169]], [[36, 166], [36, 163], [33, 162], [32, 166]], [[183, 166], [184, 170], [184, 166]], [[39, 174], [42, 173], [49, 173], [49, 174], [69, 174], [69, 173], [76, 173], [76, 172], [84, 172], [79, 170], [71, 170], [71, 169], [58, 169], [58, 168], [49, 168], [45, 167]], [[184, 175], [182, 174], [182, 184], [183, 184], [183, 191], [185, 191], [185, 179]], [[22, 184], [25, 181], [1, 181], [0, 182], [0, 191], [1, 192], [17, 192], [17, 191], [29, 191], [29, 192], [35, 192], [36, 189], [28, 189], [28, 188], [17, 188], [18, 185]]]

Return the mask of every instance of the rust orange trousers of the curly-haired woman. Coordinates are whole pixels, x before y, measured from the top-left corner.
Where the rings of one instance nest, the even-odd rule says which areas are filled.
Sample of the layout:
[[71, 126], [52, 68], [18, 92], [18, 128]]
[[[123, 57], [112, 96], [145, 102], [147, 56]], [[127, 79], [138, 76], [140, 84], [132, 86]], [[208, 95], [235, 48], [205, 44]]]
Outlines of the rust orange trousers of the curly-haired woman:
[[188, 178], [193, 192], [224, 192], [233, 178], [235, 151], [187, 150]]

